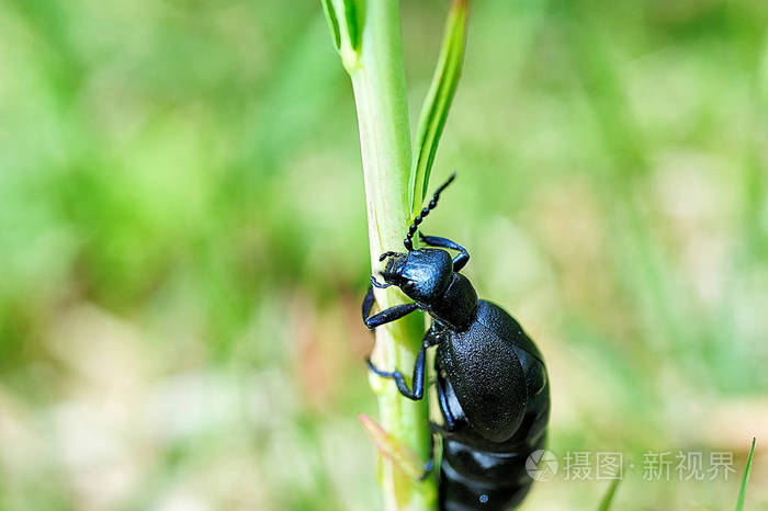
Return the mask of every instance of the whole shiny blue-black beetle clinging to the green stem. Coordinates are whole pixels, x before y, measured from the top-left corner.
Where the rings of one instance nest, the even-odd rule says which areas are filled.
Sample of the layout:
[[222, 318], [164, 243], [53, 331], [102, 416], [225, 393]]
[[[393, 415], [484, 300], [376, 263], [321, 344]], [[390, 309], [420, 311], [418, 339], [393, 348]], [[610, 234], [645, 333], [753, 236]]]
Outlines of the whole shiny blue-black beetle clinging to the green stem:
[[[443, 438], [440, 465], [440, 509], [506, 510], [528, 493], [533, 479], [527, 474], [529, 455], [544, 447], [550, 416], [550, 389], [541, 353], [520, 325], [502, 308], [477, 299], [470, 281], [459, 273], [470, 260], [466, 249], [445, 238], [421, 236], [414, 250], [413, 236], [434, 208], [438, 189], [405, 238], [407, 252], [386, 252], [376, 287], [399, 287], [411, 304], [371, 316], [374, 297], [369, 287], [363, 299], [363, 321], [370, 329], [399, 319], [417, 309], [432, 317], [416, 359], [413, 390], [399, 371], [377, 375], [393, 378], [409, 399], [425, 391], [426, 350], [437, 345], [434, 366], [443, 424], [433, 428]], [[443, 249], [456, 250], [451, 256]]]

